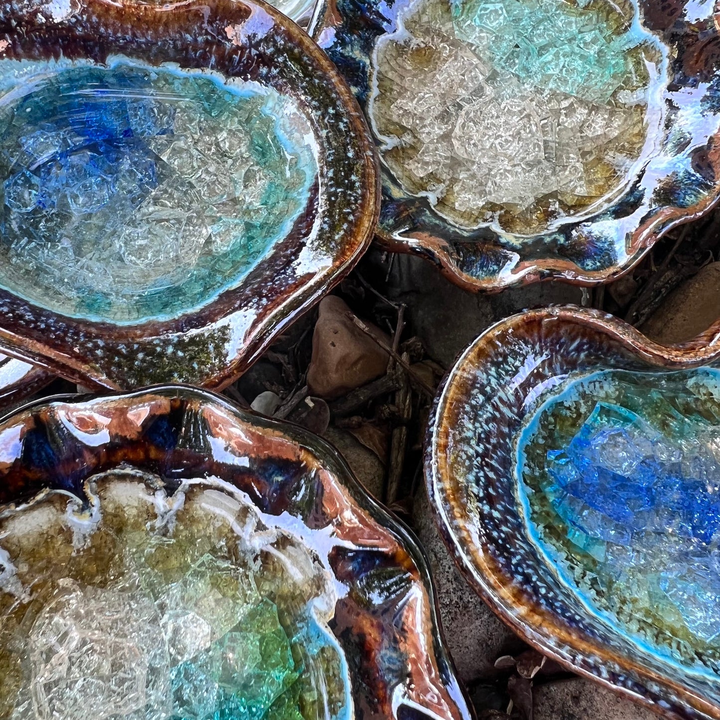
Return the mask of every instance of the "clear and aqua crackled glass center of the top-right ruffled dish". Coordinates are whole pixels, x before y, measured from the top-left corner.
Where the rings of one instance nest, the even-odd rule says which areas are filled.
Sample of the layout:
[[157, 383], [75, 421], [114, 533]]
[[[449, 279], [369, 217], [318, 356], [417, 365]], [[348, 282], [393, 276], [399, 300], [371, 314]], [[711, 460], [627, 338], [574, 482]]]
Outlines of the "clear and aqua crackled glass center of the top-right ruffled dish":
[[369, 111], [411, 194], [462, 228], [538, 233], [622, 183], [660, 52], [604, 0], [416, 0], [377, 43]]

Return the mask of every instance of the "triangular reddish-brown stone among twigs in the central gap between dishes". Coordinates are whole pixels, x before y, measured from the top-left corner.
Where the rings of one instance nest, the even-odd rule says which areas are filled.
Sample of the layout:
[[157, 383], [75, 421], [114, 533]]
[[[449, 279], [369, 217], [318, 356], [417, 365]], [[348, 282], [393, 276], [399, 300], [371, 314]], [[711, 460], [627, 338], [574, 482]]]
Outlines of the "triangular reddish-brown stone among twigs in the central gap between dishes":
[[[387, 371], [388, 354], [353, 323], [350, 308], [335, 295], [320, 302], [312, 335], [307, 387], [312, 395], [334, 400]], [[390, 345], [390, 338], [371, 323], [369, 330]]]

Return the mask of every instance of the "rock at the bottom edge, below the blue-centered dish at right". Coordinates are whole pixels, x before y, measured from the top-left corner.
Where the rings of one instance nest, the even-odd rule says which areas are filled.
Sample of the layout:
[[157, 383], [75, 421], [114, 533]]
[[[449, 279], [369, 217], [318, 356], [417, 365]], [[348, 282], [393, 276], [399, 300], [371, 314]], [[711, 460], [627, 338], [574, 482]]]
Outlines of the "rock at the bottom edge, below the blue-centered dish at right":
[[585, 678], [533, 688], [535, 720], [657, 720], [652, 711]]

